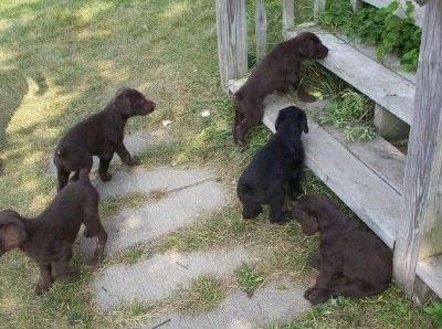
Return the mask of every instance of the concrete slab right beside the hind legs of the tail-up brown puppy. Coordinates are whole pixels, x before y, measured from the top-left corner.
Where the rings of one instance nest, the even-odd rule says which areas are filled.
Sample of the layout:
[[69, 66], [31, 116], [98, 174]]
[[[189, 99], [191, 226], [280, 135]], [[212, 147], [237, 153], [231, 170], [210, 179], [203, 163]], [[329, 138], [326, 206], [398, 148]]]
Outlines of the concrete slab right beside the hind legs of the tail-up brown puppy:
[[[133, 179], [136, 180], [136, 177], [128, 177], [125, 181], [129, 182]], [[194, 181], [198, 181], [197, 176]], [[119, 189], [125, 188], [120, 185]], [[136, 243], [148, 243], [192, 223], [203, 212], [220, 209], [224, 203], [225, 192], [222, 187], [213, 181], [202, 181], [199, 184], [169, 192], [159, 201], [150, 201], [134, 209], [124, 209], [116, 216], [103, 221], [103, 226], [108, 234], [105, 254], [122, 251]], [[93, 248], [94, 242], [90, 238], [82, 236], [78, 242], [84, 254]]]

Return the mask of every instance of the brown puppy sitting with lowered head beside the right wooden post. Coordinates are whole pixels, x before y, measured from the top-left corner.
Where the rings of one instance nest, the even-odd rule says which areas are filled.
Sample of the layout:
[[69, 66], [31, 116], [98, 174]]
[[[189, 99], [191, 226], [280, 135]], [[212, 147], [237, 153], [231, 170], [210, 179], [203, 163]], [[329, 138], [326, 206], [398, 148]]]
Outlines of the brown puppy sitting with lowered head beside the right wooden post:
[[327, 197], [306, 194], [292, 210], [305, 234], [320, 232], [319, 269], [304, 297], [318, 304], [336, 296], [361, 298], [385, 290], [391, 280], [392, 253], [375, 234], [343, 213]]

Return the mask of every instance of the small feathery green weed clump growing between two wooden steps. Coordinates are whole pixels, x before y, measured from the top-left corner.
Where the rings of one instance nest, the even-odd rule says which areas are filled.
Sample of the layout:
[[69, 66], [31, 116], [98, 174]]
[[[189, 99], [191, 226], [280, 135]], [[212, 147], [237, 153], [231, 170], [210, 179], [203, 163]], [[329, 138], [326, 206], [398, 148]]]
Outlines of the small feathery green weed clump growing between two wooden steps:
[[345, 89], [335, 102], [325, 106], [325, 113], [318, 121], [320, 125], [332, 124], [337, 128], [344, 128], [346, 139], [349, 141], [361, 141], [375, 137], [372, 118], [370, 100], [351, 89]]

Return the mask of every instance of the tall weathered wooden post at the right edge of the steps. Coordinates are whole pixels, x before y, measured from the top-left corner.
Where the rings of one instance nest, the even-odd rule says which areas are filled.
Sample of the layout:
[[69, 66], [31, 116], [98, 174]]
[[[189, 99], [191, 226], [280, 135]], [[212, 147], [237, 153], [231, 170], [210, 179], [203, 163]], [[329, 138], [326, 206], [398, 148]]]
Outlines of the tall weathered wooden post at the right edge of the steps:
[[428, 2], [406, 166], [394, 277], [414, 297], [419, 259], [442, 252], [442, 1]]

